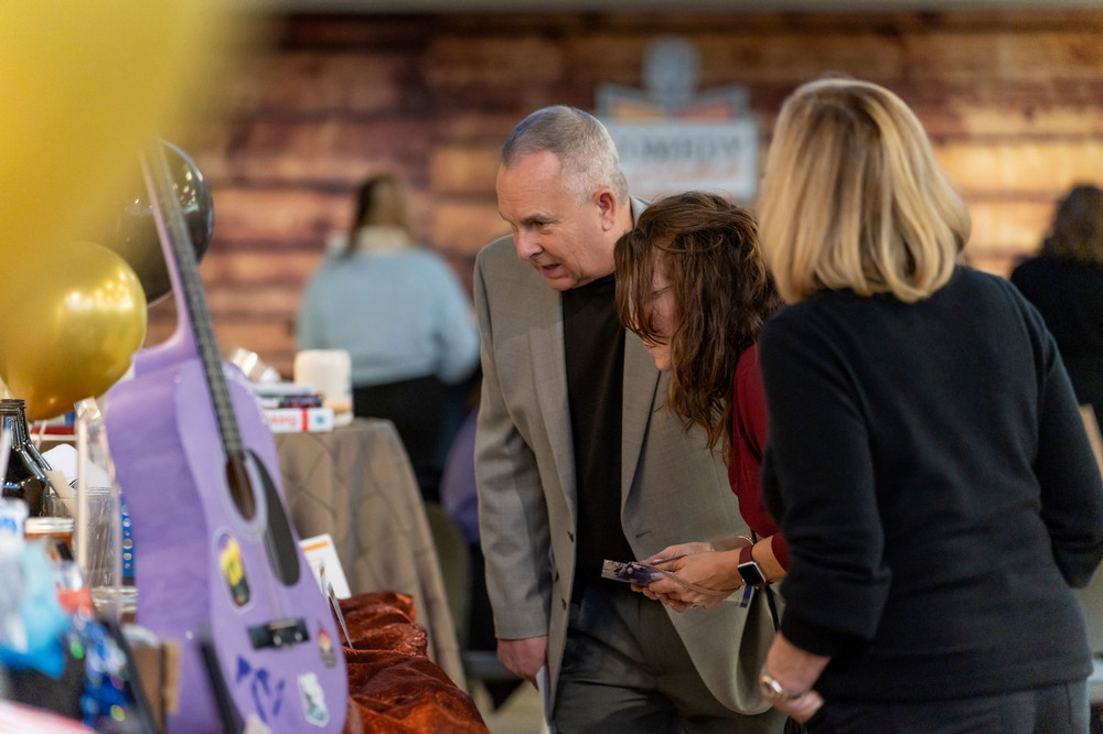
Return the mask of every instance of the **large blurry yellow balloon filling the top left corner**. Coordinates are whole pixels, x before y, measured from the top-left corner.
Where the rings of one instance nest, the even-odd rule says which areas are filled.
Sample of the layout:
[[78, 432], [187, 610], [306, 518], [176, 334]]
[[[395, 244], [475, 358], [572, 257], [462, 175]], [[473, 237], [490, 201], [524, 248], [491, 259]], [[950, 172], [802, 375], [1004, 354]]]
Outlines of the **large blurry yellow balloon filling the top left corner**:
[[216, 4], [0, 1], [6, 268], [43, 242], [88, 231], [126, 187], [142, 150], [180, 123], [204, 86], [217, 84], [202, 78], [221, 53], [211, 44], [231, 37], [225, 19], [214, 17]]

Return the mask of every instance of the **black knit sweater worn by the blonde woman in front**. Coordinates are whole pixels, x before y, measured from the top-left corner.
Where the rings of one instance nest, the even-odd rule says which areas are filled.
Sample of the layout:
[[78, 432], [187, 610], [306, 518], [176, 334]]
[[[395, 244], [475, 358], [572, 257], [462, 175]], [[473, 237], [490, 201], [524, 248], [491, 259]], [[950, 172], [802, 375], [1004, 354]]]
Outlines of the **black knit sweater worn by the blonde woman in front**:
[[1007, 281], [824, 291], [759, 350], [763, 497], [790, 543], [782, 632], [825, 697], [932, 700], [1091, 672], [1070, 585], [1103, 558], [1103, 482], [1052, 337]]

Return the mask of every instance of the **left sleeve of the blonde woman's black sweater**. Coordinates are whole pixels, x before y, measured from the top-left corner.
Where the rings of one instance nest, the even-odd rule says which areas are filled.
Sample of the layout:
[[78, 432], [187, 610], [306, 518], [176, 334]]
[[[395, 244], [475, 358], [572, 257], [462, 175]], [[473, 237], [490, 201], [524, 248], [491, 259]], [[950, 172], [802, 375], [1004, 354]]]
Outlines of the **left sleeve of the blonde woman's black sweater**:
[[847, 638], [872, 638], [891, 581], [860, 386], [803, 310], [767, 324], [759, 355], [770, 412], [763, 498], [791, 553], [782, 632], [829, 656]]

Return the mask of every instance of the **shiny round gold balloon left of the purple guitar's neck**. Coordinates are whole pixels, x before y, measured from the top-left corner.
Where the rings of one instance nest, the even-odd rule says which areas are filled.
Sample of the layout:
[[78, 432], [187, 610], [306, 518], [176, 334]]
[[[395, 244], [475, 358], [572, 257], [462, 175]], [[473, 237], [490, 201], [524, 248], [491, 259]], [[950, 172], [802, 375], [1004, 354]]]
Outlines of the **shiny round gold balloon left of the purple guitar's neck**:
[[0, 302], [0, 377], [43, 420], [107, 391], [146, 338], [146, 296], [126, 260], [94, 242], [22, 265]]

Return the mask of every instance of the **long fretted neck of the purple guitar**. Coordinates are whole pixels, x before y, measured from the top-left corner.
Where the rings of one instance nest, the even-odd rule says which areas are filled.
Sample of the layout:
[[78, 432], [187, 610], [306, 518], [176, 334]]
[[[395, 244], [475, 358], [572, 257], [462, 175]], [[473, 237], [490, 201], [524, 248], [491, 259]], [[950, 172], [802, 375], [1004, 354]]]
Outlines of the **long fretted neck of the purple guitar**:
[[199, 356], [214, 404], [223, 449], [227, 455], [239, 454], [244, 449], [242, 434], [234, 417], [229, 389], [226, 387], [226, 375], [223, 373], [222, 356], [211, 324], [211, 313], [203, 296], [195, 250], [180, 202], [173, 192], [172, 177], [160, 141], [153, 149], [151, 154], [142, 156], [142, 172], [150, 202], [153, 203], [153, 220], [176, 304], [178, 323], [172, 339], [173, 348], [179, 349], [181, 345], [190, 343]]

